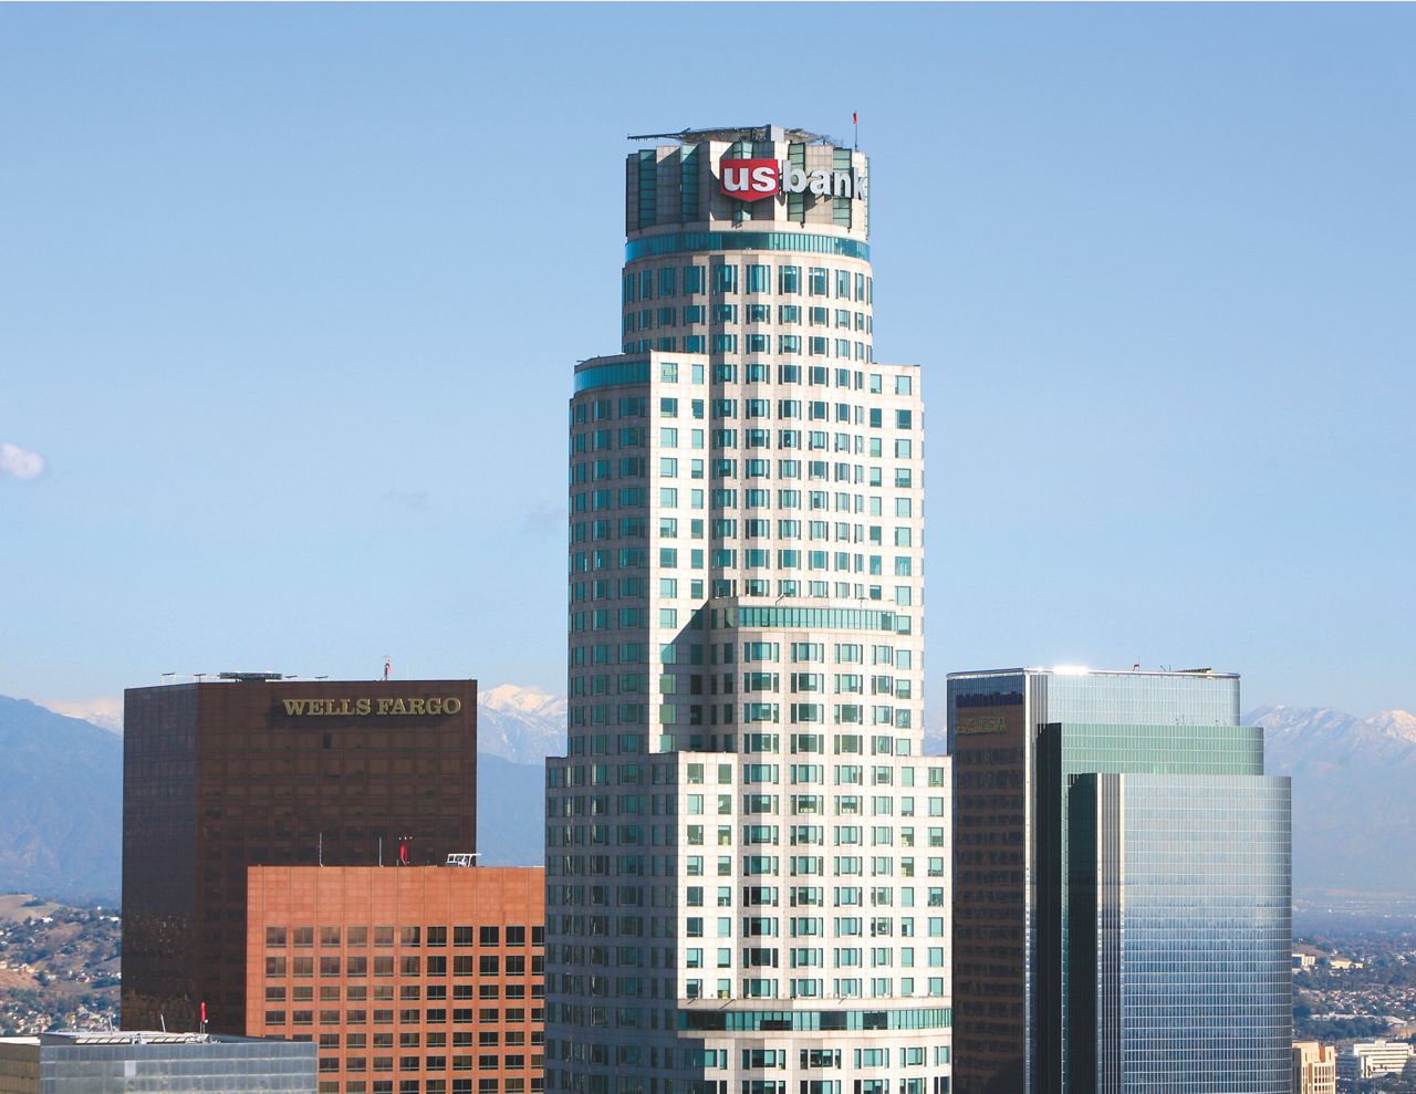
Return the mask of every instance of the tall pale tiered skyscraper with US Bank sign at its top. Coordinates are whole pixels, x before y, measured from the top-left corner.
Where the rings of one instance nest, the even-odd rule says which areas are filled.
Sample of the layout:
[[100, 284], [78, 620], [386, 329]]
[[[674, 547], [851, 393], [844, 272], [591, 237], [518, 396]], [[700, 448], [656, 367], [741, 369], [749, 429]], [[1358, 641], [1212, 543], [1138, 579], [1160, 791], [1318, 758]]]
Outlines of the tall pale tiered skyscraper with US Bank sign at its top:
[[547, 1086], [942, 1094], [923, 406], [872, 350], [869, 166], [660, 140], [626, 163], [623, 352], [569, 408]]

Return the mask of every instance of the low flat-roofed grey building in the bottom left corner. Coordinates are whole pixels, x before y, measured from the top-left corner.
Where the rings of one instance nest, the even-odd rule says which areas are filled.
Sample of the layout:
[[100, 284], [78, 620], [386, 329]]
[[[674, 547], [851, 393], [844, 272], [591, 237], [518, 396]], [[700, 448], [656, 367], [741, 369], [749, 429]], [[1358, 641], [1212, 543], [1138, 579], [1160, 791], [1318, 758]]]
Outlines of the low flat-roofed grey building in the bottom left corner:
[[0, 1094], [314, 1094], [313, 1044], [219, 1033], [0, 1037]]

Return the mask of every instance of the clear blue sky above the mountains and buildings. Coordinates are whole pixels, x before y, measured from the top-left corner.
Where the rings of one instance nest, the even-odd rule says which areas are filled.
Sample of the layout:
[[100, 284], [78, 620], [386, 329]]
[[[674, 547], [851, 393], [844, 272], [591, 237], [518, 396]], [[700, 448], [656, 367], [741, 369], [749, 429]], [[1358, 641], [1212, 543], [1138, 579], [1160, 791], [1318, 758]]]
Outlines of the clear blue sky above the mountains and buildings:
[[936, 716], [1136, 660], [1416, 708], [1413, 55], [1410, 6], [0, 7], [0, 693], [561, 689], [624, 134], [860, 110]]

